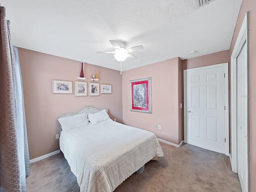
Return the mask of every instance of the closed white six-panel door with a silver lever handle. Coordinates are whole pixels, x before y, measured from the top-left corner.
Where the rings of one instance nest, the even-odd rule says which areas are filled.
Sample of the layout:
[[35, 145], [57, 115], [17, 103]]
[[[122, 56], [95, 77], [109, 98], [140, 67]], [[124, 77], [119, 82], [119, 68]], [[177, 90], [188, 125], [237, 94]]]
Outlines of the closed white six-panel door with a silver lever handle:
[[[216, 67], [218, 66], [218, 67]], [[186, 70], [186, 141], [225, 153], [224, 66]]]

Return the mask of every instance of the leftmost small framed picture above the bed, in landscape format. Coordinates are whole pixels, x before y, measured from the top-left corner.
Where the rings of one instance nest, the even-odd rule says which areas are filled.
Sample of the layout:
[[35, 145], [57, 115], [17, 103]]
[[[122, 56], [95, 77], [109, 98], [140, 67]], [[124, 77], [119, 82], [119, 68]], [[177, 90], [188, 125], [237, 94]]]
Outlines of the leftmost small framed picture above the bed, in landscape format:
[[73, 94], [73, 82], [52, 80], [52, 93], [53, 94]]

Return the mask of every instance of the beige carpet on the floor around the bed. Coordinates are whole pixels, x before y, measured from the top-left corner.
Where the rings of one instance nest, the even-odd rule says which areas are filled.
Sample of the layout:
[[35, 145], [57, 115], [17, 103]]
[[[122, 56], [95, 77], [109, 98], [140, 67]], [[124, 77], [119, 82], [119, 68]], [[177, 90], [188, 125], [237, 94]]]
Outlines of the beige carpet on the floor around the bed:
[[[164, 158], [150, 161], [114, 192], [241, 192], [229, 157], [189, 144], [160, 142]], [[28, 192], [79, 192], [76, 177], [62, 153], [30, 164]]]

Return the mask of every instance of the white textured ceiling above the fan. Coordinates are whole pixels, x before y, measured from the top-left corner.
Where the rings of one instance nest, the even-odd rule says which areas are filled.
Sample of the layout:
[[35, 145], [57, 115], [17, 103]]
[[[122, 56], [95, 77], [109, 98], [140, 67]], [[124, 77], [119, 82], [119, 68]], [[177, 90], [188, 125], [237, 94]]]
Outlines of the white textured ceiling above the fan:
[[[0, 0], [14, 46], [119, 70], [109, 40], [143, 45], [123, 70], [230, 48], [242, 0]], [[196, 50], [196, 54], [189, 52]]]

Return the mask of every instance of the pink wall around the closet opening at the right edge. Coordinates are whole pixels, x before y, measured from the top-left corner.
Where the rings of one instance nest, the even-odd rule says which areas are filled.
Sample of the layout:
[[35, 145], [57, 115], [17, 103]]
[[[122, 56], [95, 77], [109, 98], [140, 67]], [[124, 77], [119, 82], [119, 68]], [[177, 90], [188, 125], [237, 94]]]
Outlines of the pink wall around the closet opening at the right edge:
[[238, 16], [236, 29], [230, 46], [230, 54], [234, 49], [238, 33], [240, 31], [242, 21], [247, 11], [249, 15], [249, 54], [250, 54], [250, 191], [256, 191], [256, 1], [243, 0], [240, 13]]

